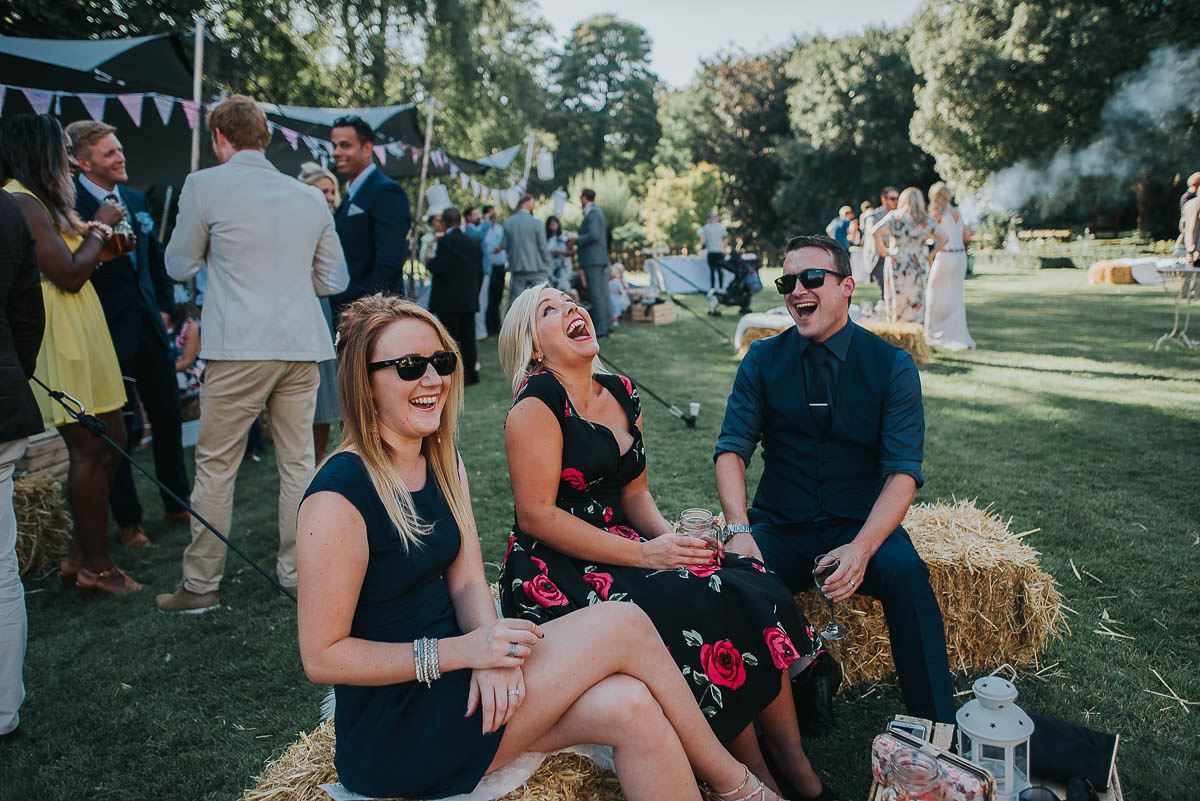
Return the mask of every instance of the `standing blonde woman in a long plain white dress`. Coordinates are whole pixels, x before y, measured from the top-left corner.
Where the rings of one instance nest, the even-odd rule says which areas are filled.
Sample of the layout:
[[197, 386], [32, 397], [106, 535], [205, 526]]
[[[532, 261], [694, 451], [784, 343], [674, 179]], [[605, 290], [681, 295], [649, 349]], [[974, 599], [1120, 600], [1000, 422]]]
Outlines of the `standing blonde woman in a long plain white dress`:
[[950, 189], [942, 181], [929, 187], [929, 205], [937, 221], [937, 230], [946, 236], [946, 247], [934, 258], [929, 271], [925, 341], [947, 350], [974, 348], [974, 339], [967, 331], [967, 307], [962, 294], [971, 231], [950, 201]]

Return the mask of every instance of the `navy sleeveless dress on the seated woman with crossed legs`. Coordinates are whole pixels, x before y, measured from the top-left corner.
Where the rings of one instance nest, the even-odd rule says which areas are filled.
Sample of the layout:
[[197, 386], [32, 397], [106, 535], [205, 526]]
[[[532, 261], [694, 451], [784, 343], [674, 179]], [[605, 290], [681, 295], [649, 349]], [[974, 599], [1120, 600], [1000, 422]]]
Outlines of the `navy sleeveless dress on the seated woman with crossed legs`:
[[[319, 492], [342, 495], [366, 523], [371, 555], [350, 636], [412, 643], [462, 634], [443, 578], [461, 540], [433, 472], [426, 469], [425, 487], [413, 493], [416, 512], [433, 531], [407, 553], [356, 453], [329, 458], [305, 498]], [[479, 711], [463, 717], [469, 687], [468, 669], [444, 673], [432, 687], [416, 681], [335, 685], [338, 779], [360, 795], [384, 799], [442, 799], [475, 789], [503, 729], [485, 735]]]

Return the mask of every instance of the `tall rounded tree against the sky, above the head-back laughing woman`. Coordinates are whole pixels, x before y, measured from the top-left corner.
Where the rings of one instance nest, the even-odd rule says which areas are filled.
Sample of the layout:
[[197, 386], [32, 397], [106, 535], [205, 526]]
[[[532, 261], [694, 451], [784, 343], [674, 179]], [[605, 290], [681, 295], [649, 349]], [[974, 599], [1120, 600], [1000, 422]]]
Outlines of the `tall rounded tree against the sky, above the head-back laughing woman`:
[[554, 65], [546, 127], [558, 138], [560, 171], [649, 163], [662, 127], [650, 37], [631, 22], [601, 14], [571, 31]]

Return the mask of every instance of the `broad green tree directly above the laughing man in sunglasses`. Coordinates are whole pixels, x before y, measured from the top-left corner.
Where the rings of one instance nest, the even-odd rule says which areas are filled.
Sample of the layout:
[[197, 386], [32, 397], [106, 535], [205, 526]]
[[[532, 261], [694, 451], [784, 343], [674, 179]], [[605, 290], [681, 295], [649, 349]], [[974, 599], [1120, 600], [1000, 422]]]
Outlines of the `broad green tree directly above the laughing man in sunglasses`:
[[887, 183], [929, 187], [934, 162], [908, 137], [917, 76], [905, 30], [818, 36], [787, 62], [793, 138], [780, 144], [780, 215], [797, 230], [822, 231], [842, 205], [858, 209]]

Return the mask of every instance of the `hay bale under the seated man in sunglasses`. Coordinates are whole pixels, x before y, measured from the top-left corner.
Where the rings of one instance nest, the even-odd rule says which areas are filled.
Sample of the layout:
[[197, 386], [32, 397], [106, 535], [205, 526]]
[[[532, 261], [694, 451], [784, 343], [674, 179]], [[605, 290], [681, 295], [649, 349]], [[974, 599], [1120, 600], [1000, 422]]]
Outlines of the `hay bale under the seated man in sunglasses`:
[[[1032, 531], [1013, 534], [1009, 522], [990, 506], [979, 508], [966, 500], [918, 504], [908, 510], [904, 526], [929, 566], [952, 670], [1032, 664], [1046, 642], [1061, 636], [1062, 596], [1038, 566], [1038, 552], [1022, 542]], [[815, 588], [796, 600], [815, 627], [829, 619]], [[838, 620], [850, 633], [828, 645], [845, 670], [845, 685], [895, 673], [877, 601], [856, 595], [838, 604]]]

